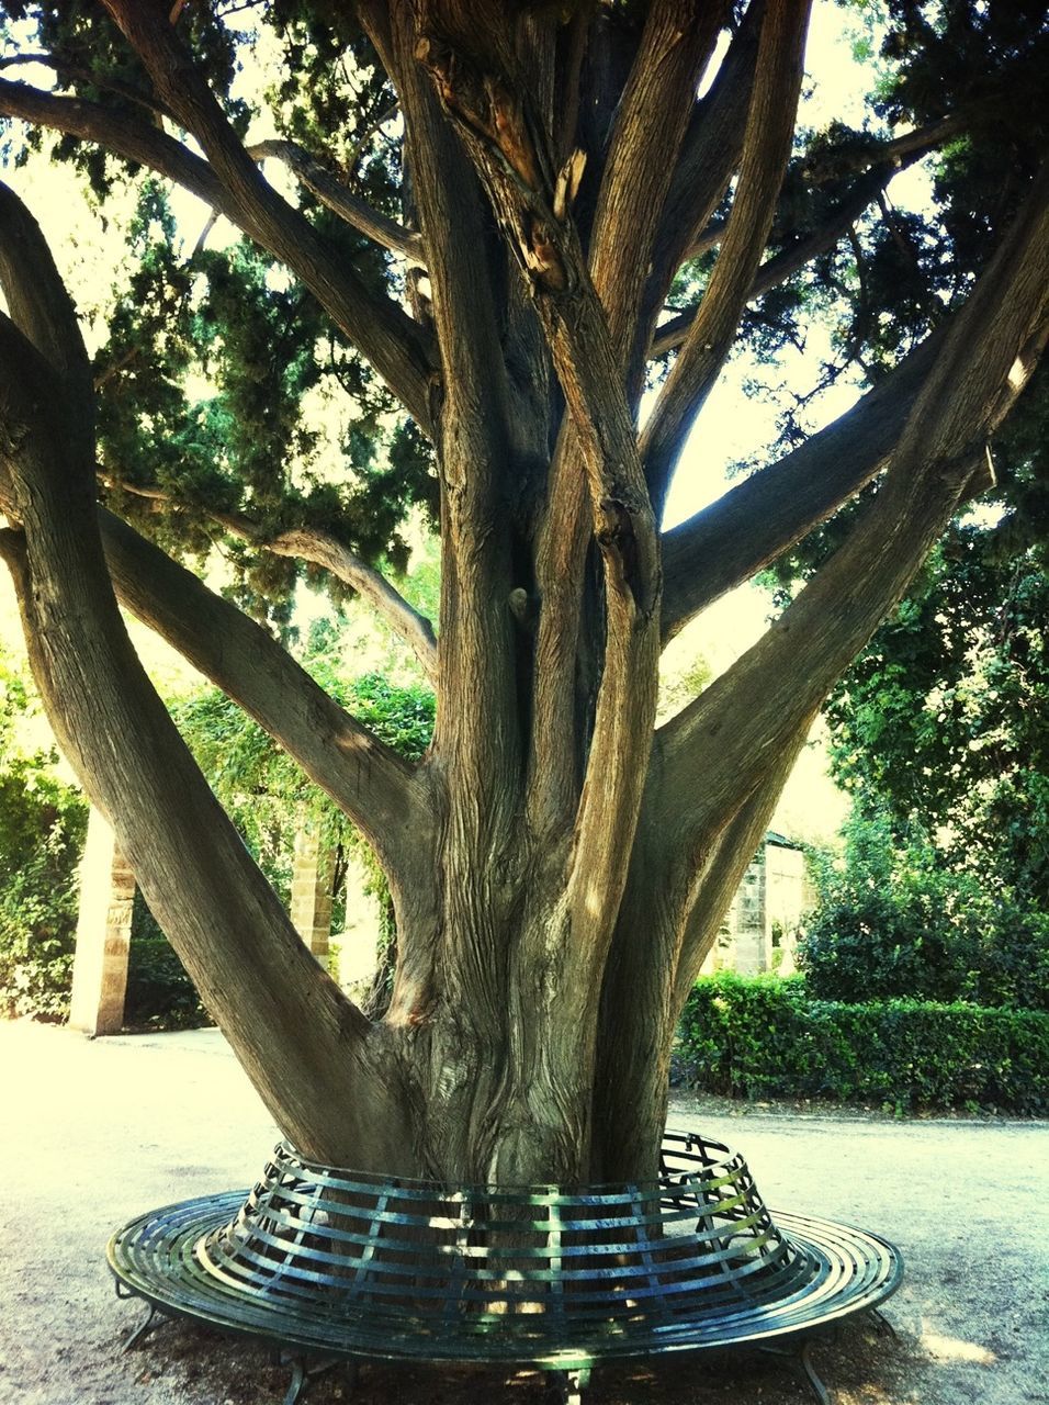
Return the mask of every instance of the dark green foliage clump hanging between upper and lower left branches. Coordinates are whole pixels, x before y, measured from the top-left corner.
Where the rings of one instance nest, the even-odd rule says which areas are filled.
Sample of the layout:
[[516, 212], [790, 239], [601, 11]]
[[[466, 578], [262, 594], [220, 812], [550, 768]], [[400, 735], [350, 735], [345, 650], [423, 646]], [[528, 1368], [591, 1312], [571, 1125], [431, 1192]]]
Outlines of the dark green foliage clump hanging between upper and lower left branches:
[[[367, 240], [326, 211], [315, 222], [382, 278]], [[225, 542], [230, 589], [279, 627], [299, 576], [323, 579], [337, 600], [348, 592], [256, 541], [316, 528], [404, 568], [402, 523], [413, 504], [434, 506], [428, 447], [413, 426], [390, 427], [389, 392], [272, 259], [247, 240], [187, 257], [156, 178], [138, 188], [108, 332], [94, 358], [100, 455], [114, 506], [139, 530], [202, 559], [216, 514], [247, 514], [246, 532]]]

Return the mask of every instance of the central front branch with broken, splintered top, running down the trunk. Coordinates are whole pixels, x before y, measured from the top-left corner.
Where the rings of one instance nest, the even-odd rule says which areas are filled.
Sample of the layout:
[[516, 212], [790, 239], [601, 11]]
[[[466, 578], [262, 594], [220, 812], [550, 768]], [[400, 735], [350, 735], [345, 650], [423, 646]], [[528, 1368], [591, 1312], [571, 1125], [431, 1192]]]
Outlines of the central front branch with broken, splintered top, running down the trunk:
[[[454, 30], [452, 30], [454, 32]], [[587, 471], [605, 580], [607, 645], [562, 920], [572, 936], [566, 999], [595, 995], [626, 878], [654, 717], [660, 569], [633, 422], [597, 292], [569, 216], [572, 164], [552, 170], [546, 133], [500, 72], [437, 31], [418, 48], [532, 288]], [[489, 67], [479, 67], [483, 62]]]

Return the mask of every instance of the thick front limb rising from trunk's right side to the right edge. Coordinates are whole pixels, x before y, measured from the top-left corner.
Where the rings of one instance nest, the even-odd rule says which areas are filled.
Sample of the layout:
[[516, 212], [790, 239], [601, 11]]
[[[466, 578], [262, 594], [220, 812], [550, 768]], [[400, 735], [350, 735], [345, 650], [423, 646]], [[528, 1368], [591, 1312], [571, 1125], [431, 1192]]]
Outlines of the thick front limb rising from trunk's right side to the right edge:
[[747, 794], [764, 757], [820, 705], [970, 490], [987, 436], [1049, 337], [1049, 166], [944, 337], [886, 481], [850, 540], [753, 649], [663, 729], [670, 832]]

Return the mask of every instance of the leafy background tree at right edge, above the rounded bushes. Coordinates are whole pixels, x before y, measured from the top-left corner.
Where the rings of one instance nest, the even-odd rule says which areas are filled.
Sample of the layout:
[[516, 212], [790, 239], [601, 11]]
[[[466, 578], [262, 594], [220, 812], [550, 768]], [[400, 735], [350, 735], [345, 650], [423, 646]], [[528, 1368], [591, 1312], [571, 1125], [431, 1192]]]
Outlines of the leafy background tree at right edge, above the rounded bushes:
[[1049, 909], [1049, 731], [1042, 551], [959, 524], [831, 698], [834, 774], [897, 835], [938, 832], [946, 868]]

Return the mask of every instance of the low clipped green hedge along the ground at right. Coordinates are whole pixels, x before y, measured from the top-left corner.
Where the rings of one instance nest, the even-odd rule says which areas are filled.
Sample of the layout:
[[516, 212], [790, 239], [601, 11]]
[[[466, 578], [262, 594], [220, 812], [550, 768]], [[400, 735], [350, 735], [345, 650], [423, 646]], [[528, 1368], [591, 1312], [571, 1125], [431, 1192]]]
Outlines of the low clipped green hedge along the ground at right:
[[924, 1000], [809, 999], [802, 978], [697, 982], [678, 1078], [729, 1097], [826, 1097], [899, 1113], [1049, 1111], [1049, 1014]]

